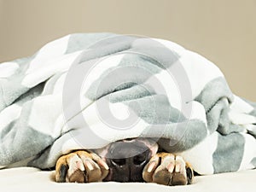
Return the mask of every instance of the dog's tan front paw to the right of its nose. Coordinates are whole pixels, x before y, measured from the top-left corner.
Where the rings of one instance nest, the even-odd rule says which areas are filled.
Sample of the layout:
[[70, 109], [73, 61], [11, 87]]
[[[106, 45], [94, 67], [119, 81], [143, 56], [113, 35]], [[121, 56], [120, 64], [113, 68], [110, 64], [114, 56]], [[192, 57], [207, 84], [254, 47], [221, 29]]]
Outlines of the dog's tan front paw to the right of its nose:
[[155, 154], [143, 169], [143, 179], [148, 183], [185, 185], [192, 182], [193, 169], [181, 156]]

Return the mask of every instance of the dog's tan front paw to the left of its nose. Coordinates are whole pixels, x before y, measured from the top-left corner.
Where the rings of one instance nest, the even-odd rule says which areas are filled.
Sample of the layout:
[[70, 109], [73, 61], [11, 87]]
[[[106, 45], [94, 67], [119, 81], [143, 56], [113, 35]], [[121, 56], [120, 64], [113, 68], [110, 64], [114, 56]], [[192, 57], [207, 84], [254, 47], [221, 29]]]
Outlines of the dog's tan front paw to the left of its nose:
[[79, 150], [63, 155], [55, 166], [56, 182], [100, 182], [108, 176], [108, 165], [97, 154]]

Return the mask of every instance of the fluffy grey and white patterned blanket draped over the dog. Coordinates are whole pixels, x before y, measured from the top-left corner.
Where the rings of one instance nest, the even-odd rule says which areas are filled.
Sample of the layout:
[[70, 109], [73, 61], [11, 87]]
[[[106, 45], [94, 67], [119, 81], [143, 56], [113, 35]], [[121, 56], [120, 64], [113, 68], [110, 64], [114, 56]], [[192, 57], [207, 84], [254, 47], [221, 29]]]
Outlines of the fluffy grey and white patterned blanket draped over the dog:
[[150, 137], [196, 172], [256, 166], [256, 104], [170, 41], [72, 34], [0, 64], [0, 166], [55, 166], [78, 148]]

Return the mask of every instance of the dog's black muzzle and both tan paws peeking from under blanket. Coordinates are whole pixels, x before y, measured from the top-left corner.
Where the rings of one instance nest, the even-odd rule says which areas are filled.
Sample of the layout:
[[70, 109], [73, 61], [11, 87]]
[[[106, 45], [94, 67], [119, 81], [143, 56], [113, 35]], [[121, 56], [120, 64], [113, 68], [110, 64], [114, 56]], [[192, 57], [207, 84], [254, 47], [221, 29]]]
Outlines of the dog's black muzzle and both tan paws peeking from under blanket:
[[166, 153], [148, 138], [131, 138], [96, 150], [75, 150], [55, 165], [55, 180], [63, 183], [146, 182], [163, 185], [192, 183], [193, 168], [183, 157]]

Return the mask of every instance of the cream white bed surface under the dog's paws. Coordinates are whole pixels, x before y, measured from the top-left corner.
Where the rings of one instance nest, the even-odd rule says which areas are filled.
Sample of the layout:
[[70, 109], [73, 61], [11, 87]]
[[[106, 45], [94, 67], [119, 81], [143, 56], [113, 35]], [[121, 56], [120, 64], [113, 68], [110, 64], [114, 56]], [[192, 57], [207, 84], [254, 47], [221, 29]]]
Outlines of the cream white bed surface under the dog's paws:
[[[19, 167], [0, 171], [1, 192], [5, 191], [255, 191], [256, 170], [195, 177], [188, 186], [166, 187], [155, 183], [55, 183], [54, 172]], [[170, 190], [172, 188], [172, 190]]]

